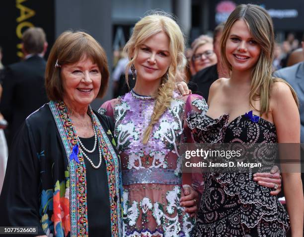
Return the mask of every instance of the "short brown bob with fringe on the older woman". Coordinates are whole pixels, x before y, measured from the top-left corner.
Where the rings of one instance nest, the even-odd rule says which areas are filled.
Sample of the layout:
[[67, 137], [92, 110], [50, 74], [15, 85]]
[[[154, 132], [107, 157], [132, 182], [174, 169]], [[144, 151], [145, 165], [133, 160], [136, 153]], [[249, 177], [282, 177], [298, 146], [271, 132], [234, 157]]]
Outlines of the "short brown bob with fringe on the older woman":
[[63, 32], [53, 45], [45, 72], [45, 87], [48, 98], [54, 101], [62, 101], [64, 95], [63, 83], [59, 65], [76, 63], [83, 57], [90, 58], [98, 65], [101, 72], [101, 86], [97, 97], [101, 98], [108, 87], [109, 70], [104, 49], [89, 34], [81, 31]]

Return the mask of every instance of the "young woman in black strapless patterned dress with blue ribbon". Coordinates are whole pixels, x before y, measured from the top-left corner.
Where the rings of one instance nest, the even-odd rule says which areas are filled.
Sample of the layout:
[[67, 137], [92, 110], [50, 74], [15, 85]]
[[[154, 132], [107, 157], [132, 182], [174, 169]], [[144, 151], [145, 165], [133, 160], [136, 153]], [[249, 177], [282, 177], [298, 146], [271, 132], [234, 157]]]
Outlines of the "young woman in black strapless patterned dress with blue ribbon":
[[[198, 140], [300, 142], [298, 100], [288, 83], [271, 76], [273, 48], [274, 30], [268, 12], [257, 5], [238, 5], [228, 17], [222, 36], [221, 50], [230, 78], [221, 78], [211, 86], [206, 115], [188, 119]], [[275, 157], [271, 160], [264, 155], [270, 169]], [[193, 236], [286, 236], [288, 215], [277, 197], [270, 195], [278, 185], [258, 186], [252, 176], [251, 172], [208, 174]], [[300, 173], [282, 176], [291, 234], [302, 237]]]

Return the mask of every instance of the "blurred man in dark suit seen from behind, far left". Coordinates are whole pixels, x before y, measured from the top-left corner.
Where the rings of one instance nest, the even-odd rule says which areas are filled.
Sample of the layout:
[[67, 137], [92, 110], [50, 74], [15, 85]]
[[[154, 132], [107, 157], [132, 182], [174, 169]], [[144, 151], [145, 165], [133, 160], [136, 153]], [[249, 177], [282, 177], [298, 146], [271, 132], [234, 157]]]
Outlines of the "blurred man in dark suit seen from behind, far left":
[[21, 123], [46, 103], [43, 58], [48, 44], [42, 28], [31, 27], [22, 35], [24, 60], [5, 68], [0, 112], [8, 121], [8, 144]]

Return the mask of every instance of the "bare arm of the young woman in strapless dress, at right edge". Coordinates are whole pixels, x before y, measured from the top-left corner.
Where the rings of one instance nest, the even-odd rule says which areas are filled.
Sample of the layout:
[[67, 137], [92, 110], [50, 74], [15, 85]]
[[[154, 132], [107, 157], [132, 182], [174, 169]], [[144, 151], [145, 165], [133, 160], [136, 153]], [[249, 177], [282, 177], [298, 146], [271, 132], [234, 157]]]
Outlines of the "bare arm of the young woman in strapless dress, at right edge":
[[[298, 160], [300, 164], [300, 116], [291, 90], [287, 84], [277, 82], [271, 91], [270, 108], [274, 124], [277, 130], [279, 143], [291, 143], [290, 148], [284, 145], [283, 153], [280, 152], [280, 159]], [[295, 144], [299, 144], [299, 152], [294, 149]], [[281, 151], [281, 149], [280, 149]], [[291, 233], [293, 237], [303, 237], [303, 213], [304, 197], [300, 171], [286, 172], [286, 165], [282, 164], [282, 176], [284, 184], [284, 194], [288, 214], [290, 216]], [[293, 173], [295, 172], [295, 173]]]

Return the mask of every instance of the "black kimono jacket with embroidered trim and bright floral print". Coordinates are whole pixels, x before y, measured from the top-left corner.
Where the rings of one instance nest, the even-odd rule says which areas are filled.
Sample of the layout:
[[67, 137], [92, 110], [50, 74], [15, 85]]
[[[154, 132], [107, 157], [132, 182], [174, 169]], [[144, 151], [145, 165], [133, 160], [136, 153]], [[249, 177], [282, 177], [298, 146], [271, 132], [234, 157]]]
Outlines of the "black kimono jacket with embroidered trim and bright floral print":
[[[120, 162], [111, 134], [113, 123], [90, 107], [88, 115], [106, 167], [111, 234], [120, 237]], [[45, 104], [25, 120], [10, 147], [0, 226], [37, 227], [35, 236], [89, 234], [86, 168], [78, 146], [63, 102]]]

